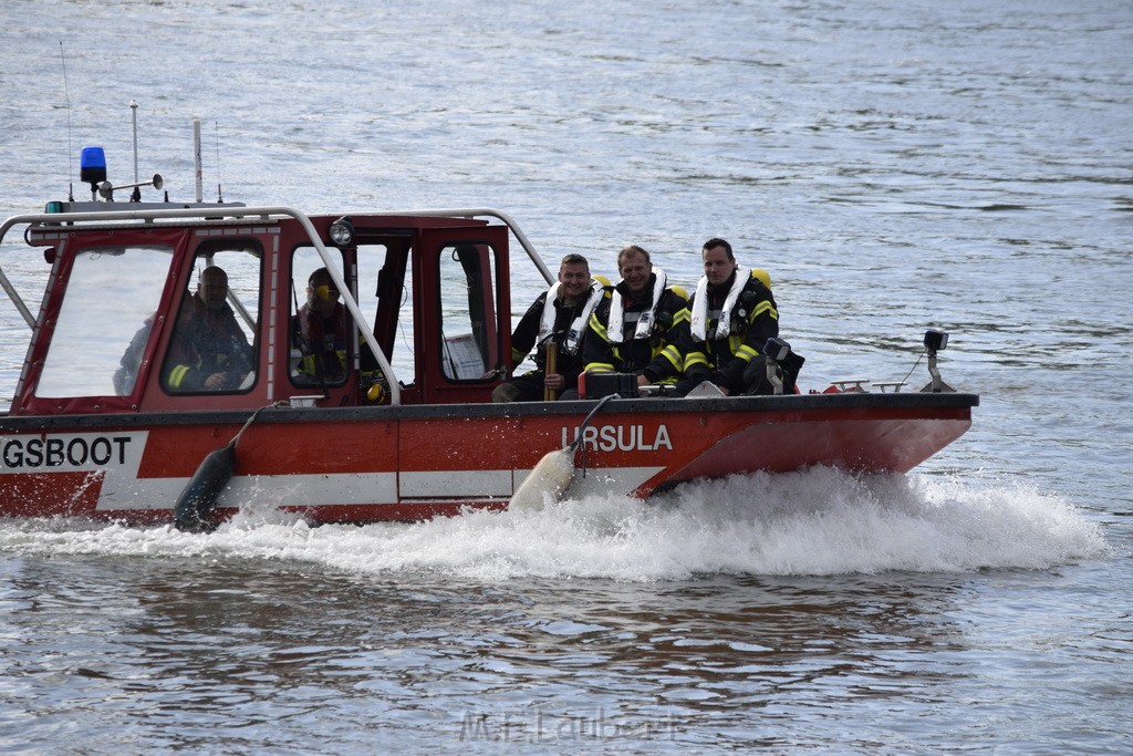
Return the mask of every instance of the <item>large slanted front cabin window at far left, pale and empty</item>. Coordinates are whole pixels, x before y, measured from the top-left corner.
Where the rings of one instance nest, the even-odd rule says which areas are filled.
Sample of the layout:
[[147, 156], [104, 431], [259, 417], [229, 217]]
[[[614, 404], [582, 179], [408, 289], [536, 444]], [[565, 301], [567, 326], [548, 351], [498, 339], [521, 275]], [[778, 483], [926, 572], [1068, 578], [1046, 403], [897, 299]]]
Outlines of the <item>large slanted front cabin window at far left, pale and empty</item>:
[[172, 253], [168, 246], [107, 246], [75, 256], [39, 396], [126, 396], [134, 390]]

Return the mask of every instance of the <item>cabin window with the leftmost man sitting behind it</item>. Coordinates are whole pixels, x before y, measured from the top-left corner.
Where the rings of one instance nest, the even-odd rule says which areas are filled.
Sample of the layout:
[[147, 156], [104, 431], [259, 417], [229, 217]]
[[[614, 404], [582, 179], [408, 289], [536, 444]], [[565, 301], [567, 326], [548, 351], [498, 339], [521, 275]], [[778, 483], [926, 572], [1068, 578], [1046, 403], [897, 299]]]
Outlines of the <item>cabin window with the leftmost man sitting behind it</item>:
[[211, 243], [197, 250], [162, 365], [168, 392], [252, 389], [258, 366], [262, 258], [256, 243]]

